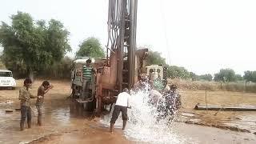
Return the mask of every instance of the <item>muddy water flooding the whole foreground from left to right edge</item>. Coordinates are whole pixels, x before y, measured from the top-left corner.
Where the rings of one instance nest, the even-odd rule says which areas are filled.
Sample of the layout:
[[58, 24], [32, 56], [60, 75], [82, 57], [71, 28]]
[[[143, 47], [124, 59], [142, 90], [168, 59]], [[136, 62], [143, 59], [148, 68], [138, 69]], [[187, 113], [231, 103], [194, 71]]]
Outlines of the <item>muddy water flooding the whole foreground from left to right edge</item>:
[[[74, 105], [70, 99], [46, 100], [43, 126], [36, 126], [37, 111], [33, 108], [32, 128], [19, 131], [18, 102], [0, 105], [0, 143], [255, 143], [254, 134], [220, 130], [213, 127], [172, 122], [169, 126], [138, 126], [127, 123], [122, 131], [118, 120], [113, 134], [109, 133], [110, 115], [89, 121], [90, 113]], [[14, 112], [6, 113], [5, 110]], [[182, 114], [194, 117], [193, 114]], [[121, 123], [120, 123], [121, 122]], [[148, 129], [151, 128], [151, 129]], [[169, 130], [166, 133], [165, 130]]]

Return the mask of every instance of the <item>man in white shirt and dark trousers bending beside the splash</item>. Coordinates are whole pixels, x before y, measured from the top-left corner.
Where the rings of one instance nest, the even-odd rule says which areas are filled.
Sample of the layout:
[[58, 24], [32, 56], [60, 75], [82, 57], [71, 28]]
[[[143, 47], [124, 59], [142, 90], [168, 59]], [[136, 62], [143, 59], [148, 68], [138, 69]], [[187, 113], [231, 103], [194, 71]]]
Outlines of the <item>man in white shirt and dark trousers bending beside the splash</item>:
[[131, 108], [130, 106], [130, 94], [129, 90], [125, 88], [122, 93], [118, 94], [117, 102], [115, 102], [112, 118], [110, 121], [110, 132], [113, 132], [114, 123], [118, 119], [120, 111], [122, 111], [122, 130], [126, 128], [126, 122], [128, 119], [127, 108]]

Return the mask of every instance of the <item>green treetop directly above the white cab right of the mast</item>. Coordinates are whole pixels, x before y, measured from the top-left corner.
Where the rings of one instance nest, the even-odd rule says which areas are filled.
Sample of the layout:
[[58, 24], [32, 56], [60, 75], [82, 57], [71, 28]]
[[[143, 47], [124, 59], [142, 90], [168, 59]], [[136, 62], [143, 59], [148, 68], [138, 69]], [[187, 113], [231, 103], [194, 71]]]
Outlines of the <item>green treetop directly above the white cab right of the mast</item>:
[[162, 58], [161, 53], [150, 50], [146, 63], [147, 65], [166, 65], [166, 58]]

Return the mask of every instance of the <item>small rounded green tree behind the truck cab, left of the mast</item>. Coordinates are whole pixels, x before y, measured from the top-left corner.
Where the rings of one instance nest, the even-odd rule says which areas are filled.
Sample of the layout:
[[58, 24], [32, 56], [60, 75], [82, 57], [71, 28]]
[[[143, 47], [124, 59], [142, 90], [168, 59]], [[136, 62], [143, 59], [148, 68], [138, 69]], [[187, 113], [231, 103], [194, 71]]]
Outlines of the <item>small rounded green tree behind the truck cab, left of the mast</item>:
[[76, 53], [76, 57], [104, 58], [105, 53], [99, 40], [91, 37], [87, 38], [79, 45], [79, 50]]

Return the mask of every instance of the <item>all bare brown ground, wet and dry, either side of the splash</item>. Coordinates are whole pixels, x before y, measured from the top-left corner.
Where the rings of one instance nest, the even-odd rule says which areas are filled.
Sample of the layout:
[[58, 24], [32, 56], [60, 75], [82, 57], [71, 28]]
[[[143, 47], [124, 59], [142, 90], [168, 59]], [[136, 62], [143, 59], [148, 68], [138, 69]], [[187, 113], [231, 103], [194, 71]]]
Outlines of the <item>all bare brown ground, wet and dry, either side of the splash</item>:
[[[54, 89], [45, 97], [45, 114], [43, 126], [36, 126], [37, 111], [32, 100], [33, 127], [19, 131], [20, 112], [18, 90], [22, 87], [22, 80], [18, 80], [16, 90], [0, 90], [0, 143], [142, 143], [127, 139], [120, 129], [113, 134], [109, 133], [108, 126], [102, 126], [99, 118], [89, 121], [82, 110], [74, 106], [67, 98], [70, 96], [70, 82], [50, 81]], [[32, 86], [32, 94], [37, 94], [42, 80], [37, 80]], [[206, 126], [188, 125], [178, 122], [178, 134], [190, 138], [184, 143], [254, 143], [256, 136], [255, 112], [227, 112], [197, 111], [194, 106], [199, 102], [205, 104], [205, 91], [182, 90], [182, 109], [179, 113], [183, 121]], [[255, 106], [256, 94], [214, 91], [207, 92], [208, 104], [225, 106]], [[6, 113], [5, 110], [14, 110]], [[215, 115], [214, 115], [215, 114]], [[230, 130], [221, 130], [210, 126], [225, 128], [230, 126], [250, 130], [250, 133], [241, 133]], [[232, 130], [232, 129], [231, 129]], [[195, 133], [195, 131], [197, 131]], [[192, 140], [191, 140], [192, 138]]]

